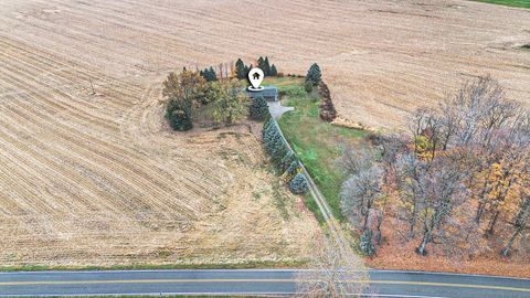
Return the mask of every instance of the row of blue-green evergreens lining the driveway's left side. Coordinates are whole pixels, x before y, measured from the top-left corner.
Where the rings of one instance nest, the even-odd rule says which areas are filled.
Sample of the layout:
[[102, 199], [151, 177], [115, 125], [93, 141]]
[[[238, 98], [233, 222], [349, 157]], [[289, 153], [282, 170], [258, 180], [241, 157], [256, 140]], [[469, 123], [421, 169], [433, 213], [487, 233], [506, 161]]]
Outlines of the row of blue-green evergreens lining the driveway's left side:
[[306, 193], [309, 187], [306, 177], [301, 173], [300, 162], [285, 142], [273, 118], [269, 118], [263, 127], [263, 142], [265, 151], [279, 172], [286, 174], [290, 191], [296, 194]]

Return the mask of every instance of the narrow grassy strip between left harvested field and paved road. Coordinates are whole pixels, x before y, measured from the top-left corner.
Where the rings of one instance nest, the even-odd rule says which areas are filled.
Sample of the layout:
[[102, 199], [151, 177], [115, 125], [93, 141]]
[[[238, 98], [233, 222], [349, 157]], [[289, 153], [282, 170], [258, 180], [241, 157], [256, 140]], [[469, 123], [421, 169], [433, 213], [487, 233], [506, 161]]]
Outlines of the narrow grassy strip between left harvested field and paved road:
[[135, 264], [112, 266], [47, 266], [47, 265], [20, 265], [0, 266], [0, 272], [76, 272], [76, 270], [168, 270], [168, 269], [257, 269], [257, 268], [298, 268], [307, 260], [278, 260], [278, 262], [245, 262], [235, 264]]

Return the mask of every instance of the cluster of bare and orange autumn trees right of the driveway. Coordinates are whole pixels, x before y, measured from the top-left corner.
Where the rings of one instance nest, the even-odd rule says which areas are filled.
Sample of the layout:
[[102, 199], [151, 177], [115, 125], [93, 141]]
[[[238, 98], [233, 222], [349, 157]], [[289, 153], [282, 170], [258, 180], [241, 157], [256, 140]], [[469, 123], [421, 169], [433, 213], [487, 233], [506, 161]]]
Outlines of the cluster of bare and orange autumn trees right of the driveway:
[[420, 108], [406, 135], [372, 138], [378, 149], [347, 148], [341, 209], [372, 254], [388, 215], [416, 253], [499, 249], [509, 255], [530, 217], [530, 111], [489, 76], [462, 86], [437, 108]]

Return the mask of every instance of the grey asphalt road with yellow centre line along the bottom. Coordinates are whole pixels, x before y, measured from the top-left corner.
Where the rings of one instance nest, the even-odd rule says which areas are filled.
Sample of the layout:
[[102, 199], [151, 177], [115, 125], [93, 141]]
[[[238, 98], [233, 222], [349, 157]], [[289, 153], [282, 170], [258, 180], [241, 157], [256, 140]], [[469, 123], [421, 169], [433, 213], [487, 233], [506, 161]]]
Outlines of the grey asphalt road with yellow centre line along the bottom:
[[[0, 273], [0, 296], [290, 295], [294, 270], [124, 270]], [[530, 297], [530, 279], [370, 272], [375, 297]]]

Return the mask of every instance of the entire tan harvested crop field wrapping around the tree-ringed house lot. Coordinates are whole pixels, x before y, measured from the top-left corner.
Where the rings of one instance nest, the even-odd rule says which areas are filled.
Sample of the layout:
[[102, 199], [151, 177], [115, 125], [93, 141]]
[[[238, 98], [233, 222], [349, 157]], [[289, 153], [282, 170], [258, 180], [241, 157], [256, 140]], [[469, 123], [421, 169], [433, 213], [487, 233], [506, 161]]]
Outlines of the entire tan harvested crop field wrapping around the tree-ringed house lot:
[[529, 10], [469, 1], [4, 0], [0, 264], [300, 257], [316, 223], [297, 198], [278, 206], [255, 135], [171, 134], [163, 75], [316, 61], [342, 116], [403, 126], [485, 73], [529, 103]]

